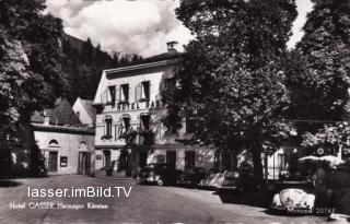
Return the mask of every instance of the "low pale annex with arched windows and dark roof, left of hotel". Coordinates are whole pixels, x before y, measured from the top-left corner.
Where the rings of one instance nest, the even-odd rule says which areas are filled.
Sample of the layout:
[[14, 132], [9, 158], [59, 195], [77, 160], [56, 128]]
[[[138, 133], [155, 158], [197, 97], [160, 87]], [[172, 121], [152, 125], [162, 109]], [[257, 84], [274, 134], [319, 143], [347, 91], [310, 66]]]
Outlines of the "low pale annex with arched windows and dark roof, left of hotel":
[[68, 101], [57, 99], [54, 109], [35, 113], [31, 120], [48, 174], [94, 174], [95, 131], [80, 122]]

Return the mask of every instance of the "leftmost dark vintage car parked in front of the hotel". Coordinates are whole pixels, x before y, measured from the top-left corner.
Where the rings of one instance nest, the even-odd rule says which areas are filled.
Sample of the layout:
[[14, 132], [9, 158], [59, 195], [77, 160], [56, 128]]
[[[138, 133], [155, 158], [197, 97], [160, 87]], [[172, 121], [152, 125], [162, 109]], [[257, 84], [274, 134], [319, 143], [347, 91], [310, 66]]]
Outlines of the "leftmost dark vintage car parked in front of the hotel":
[[138, 180], [142, 182], [155, 182], [159, 186], [174, 185], [182, 172], [176, 170], [166, 163], [148, 164], [139, 172]]

